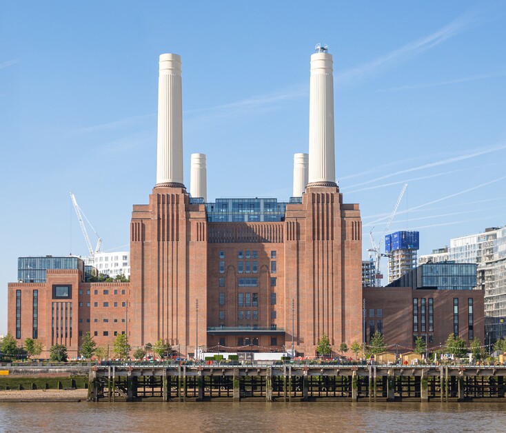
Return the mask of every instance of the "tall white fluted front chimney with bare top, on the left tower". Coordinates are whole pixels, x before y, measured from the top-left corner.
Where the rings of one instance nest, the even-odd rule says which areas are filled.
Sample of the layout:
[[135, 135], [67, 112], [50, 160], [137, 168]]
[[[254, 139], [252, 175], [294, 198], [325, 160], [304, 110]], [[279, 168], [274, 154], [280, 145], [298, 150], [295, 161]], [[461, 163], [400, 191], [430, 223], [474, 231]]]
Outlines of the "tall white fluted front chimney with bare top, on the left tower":
[[161, 54], [159, 64], [156, 186], [184, 188], [181, 57]]

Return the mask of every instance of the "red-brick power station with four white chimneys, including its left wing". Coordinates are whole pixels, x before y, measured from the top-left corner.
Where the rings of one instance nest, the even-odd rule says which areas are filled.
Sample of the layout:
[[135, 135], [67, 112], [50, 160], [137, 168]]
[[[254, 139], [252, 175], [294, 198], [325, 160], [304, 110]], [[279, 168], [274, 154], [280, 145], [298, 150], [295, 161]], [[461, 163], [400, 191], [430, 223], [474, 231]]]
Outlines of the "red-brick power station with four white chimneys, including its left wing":
[[[159, 59], [156, 185], [134, 205], [129, 283], [92, 283], [81, 259], [24, 257], [8, 285], [8, 331], [21, 345], [77, 356], [83, 334], [132, 348], [163, 339], [181, 356], [290, 350], [314, 355], [363, 341], [361, 214], [335, 176], [332, 55], [311, 56], [309, 154], [294, 154], [294, 192], [208, 201], [205, 154], [183, 184], [181, 58]], [[121, 258], [120, 258], [121, 260]], [[198, 350], [198, 349], [197, 349]], [[47, 352], [44, 352], [47, 353]]]

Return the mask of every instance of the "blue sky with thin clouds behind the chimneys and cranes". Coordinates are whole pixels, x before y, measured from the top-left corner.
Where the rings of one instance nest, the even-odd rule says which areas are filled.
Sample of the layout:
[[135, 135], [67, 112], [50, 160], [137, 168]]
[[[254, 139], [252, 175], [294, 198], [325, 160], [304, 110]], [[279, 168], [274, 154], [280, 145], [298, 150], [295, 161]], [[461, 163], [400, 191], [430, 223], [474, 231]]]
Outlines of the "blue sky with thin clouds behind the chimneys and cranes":
[[[208, 198], [292, 192], [307, 152], [310, 55], [334, 56], [336, 176], [364, 257], [392, 230], [421, 254], [506, 221], [505, 1], [5, 1], [0, 10], [0, 334], [17, 257], [128, 249], [156, 180], [158, 57], [181, 54], [185, 184]], [[92, 238], [92, 243], [96, 239]]]

